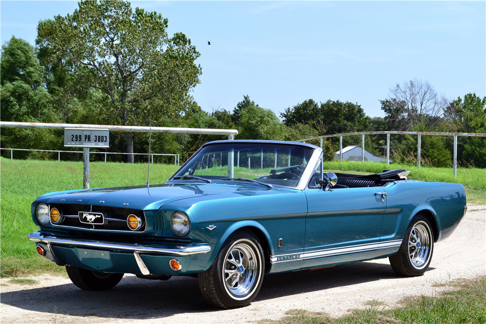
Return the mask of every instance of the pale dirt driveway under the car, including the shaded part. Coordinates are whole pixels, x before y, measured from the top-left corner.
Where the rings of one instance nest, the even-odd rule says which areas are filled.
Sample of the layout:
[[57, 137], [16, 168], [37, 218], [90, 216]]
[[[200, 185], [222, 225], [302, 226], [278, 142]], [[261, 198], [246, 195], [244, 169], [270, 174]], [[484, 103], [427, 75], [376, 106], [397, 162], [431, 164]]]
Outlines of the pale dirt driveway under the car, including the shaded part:
[[[1, 322], [6, 323], [247, 323], [277, 319], [304, 308], [342, 315], [366, 301], [393, 306], [403, 297], [431, 295], [432, 287], [456, 278], [486, 274], [486, 206], [470, 206], [452, 236], [435, 245], [429, 270], [420, 277], [397, 276], [388, 259], [340, 265], [319, 271], [267, 275], [248, 307], [219, 310], [208, 305], [197, 279], [168, 281], [126, 275], [112, 290], [84, 291], [69, 279], [41, 275], [39, 284], [1, 283]], [[56, 308], [56, 311], [54, 311]]]

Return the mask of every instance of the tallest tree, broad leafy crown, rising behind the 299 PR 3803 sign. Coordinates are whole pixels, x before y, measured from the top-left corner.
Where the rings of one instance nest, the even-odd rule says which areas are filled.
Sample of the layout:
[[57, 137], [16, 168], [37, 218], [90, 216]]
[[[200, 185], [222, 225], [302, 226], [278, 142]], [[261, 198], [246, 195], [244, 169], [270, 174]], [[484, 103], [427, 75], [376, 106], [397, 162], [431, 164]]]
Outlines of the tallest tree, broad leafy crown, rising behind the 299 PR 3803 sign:
[[[98, 89], [121, 125], [184, 114], [199, 83], [199, 52], [182, 33], [169, 38], [167, 18], [123, 1], [82, 1], [72, 15], [41, 22], [36, 43], [45, 61], [62, 62], [73, 87]], [[165, 50], [164, 50], [165, 49]], [[148, 105], [147, 102], [151, 104]], [[127, 152], [133, 136], [125, 133]], [[133, 155], [128, 155], [133, 163]]]

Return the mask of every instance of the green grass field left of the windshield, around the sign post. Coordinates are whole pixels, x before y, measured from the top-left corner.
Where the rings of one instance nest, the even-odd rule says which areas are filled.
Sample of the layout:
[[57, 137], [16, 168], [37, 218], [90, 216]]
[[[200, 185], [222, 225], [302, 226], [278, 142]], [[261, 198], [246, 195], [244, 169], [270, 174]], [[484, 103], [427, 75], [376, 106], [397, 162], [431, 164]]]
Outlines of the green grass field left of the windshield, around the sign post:
[[[150, 183], [165, 182], [178, 167], [153, 164]], [[83, 188], [82, 162], [9, 160], [0, 158], [0, 276], [31, 273], [65, 274], [46, 258], [38, 256], [27, 235], [38, 230], [32, 222], [30, 206], [41, 194]], [[89, 187], [144, 185], [147, 165], [91, 162]]]

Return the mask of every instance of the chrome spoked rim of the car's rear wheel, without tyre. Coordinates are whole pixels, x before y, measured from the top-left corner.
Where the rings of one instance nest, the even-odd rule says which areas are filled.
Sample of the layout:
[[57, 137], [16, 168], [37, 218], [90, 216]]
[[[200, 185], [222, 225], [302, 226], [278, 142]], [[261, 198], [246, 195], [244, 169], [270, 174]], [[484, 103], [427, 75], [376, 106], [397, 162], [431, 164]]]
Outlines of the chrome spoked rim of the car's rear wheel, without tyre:
[[408, 238], [408, 256], [416, 269], [425, 267], [430, 258], [431, 231], [427, 223], [417, 222]]

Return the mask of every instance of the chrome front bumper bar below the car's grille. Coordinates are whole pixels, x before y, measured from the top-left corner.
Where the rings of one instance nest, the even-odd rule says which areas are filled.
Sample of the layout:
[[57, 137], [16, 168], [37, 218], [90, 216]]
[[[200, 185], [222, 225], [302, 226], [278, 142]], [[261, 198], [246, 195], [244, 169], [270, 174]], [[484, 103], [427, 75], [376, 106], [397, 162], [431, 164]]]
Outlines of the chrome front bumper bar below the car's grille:
[[209, 245], [186, 245], [186, 246], [175, 246], [174, 248], [169, 248], [165, 246], [152, 247], [146, 245], [135, 245], [135, 244], [116, 244], [116, 243], [103, 243], [103, 242], [93, 242], [87, 240], [74, 240], [74, 239], [59, 239], [55, 236], [43, 236], [39, 232], [31, 233], [28, 238], [34, 242], [42, 242], [46, 244], [56, 245], [69, 245], [76, 247], [86, 247], [94, 249], [103, 250], [114, 250], [114, 251], [126, 251], [131, 253], [156, 253], [167, 256], [191, 256], [195, 254], [203, 254], [211, 251]]

